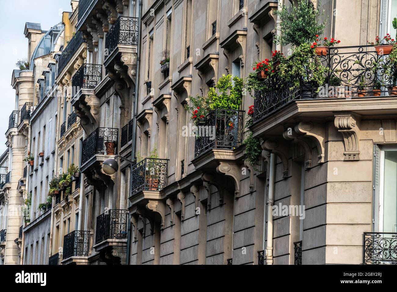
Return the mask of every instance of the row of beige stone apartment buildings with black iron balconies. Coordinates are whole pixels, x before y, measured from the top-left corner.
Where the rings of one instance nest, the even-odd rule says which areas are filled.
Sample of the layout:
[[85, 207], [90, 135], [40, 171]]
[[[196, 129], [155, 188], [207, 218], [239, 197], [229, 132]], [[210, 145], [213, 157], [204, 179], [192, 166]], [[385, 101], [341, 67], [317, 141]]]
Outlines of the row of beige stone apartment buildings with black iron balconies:
[[[328, 16], [319, 37], [341, 40], [321, 57], [326, 94], [268, 78], [202, 119], [214, 139], [186, 131], [186, 106], [275, 50], [290, 56], [275, 12], [297, 1], [73, 0], [49, 31], [27, 23], [0, 157], [0, 263], [395, 263], [382, 244], [397, 234], [397, 89], [375, 94], [371, 64], [389, 59], [367, 40], [396, 38], [397, 1], [311, 3]], [[329, 74], [346, 94], [328, 93]]]

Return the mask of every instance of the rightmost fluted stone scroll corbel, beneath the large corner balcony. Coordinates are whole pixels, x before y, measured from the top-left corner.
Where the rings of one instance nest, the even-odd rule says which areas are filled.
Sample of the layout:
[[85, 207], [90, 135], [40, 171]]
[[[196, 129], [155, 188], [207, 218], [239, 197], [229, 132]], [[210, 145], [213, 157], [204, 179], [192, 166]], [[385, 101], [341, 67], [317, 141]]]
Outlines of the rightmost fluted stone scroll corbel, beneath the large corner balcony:
[[360, 160], [359, 149], [359, 129], [356, 118], [351, 113], [335, 114], [335, 127], [343, 136], [343, 143], [345, 144], [345, 161]]

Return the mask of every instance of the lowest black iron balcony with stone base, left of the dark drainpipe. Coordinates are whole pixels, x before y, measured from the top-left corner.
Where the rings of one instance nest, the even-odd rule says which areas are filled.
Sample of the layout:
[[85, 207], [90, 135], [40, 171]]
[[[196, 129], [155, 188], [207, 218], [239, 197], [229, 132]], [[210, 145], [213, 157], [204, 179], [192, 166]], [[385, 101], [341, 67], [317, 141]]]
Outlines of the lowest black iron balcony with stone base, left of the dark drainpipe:
[[[111, 209], [96, 217], [95, 251], [108, 264], [125, 263], [127, 210]], [[117, 255], [117, 256], [115, 256]]]

